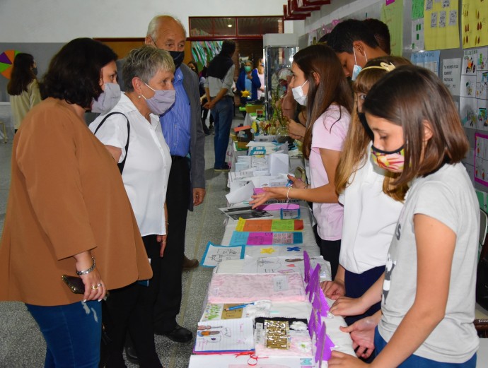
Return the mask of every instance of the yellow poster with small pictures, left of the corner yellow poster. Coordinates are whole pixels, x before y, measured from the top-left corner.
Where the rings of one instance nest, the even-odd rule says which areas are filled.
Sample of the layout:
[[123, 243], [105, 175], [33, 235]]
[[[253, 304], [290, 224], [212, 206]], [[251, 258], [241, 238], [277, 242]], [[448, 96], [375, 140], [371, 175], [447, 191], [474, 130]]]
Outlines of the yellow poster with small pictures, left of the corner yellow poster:
[[425, 0], [424, 36], [426, 50], [459, 47], [458, 0]]

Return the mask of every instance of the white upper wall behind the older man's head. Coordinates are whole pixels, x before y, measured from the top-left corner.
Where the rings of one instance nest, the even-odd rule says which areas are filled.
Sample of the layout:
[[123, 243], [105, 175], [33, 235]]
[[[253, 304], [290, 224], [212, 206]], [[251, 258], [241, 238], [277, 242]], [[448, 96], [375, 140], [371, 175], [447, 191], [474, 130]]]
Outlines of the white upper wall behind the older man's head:
[[[143, 37], [161, 13], [280, 16], [285, 0], [0, 0], [0, 42], [67, 42], [76, 37]], [[285, 22], [287, 32], [293, 23]]]

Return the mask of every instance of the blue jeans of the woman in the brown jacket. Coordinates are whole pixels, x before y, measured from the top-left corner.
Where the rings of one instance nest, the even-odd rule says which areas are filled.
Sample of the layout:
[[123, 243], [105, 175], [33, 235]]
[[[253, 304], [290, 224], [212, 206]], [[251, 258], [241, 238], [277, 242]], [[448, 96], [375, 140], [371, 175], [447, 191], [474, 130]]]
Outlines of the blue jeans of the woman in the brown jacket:
[[102, 331], [100, 302], [25, 306], [46, 340], [45, 368], [98, 368]]

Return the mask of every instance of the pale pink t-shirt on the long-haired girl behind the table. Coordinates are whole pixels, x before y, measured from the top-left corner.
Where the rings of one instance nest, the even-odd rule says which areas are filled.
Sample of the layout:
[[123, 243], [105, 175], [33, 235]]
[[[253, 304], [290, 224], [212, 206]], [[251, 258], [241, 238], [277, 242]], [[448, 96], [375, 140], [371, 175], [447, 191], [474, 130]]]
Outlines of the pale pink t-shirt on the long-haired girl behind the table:
[[[313, 124], [312, 149], [309, 158], [312, 188], [329, 183], [319, 149], [342, 150], [350, 120], [347, 109], [331, 105]], [[313, 215], [317, 220], [320, 239], [341, 239], [343, 214], [343, 208], [338, 203], [313, 203]]]

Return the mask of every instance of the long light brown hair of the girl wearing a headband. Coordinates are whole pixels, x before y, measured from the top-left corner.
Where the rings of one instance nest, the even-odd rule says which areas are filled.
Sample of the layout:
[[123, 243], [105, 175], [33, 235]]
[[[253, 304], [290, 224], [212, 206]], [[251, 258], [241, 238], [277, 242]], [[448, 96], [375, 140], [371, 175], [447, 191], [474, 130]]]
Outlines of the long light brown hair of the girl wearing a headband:
[[[402, 57], [378, 57], [371, 59], [364, 66], [364, 71], [359, 73], [358, 78], [352, 86], [354, 93], [368, 94], [373, 85], [386, 73], [387, 69], [381, 69], [381, 63], [393, 66], [409, 65], [410, 61]], [[373, 67], [366, 69], [368, 67]], [[337, 193], [341, 193], [354, 180], [354, 173], [359, 170], [366, 163], [368, 157], [366, 150], [371, 138], [366, 133], [366, 130], [359, 121], [357, 114], [357, 100], [354, 97], [354, 108], [352, 112], [351, 124], [347, 131], [346, 140], [342, 154], [339, 157], [339, 163], [335, 172], [335, 188]], [[398, 174], [393, 172], [385, 172], [385, 179], [383, 180], [383, 192], [397, 201], [401, 201], [408, 190], [408, 186], [394, 187], [391, 182]]]

